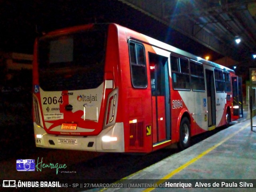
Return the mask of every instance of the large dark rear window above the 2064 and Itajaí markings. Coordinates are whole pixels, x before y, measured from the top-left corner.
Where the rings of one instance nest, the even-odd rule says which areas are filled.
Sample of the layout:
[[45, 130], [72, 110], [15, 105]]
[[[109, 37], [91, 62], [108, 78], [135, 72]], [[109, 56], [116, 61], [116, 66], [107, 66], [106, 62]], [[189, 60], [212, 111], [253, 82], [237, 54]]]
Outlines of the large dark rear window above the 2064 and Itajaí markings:
[[39, 83], [44, 91], [97, 88], [104, 78], [106, 30], [39, 40]]

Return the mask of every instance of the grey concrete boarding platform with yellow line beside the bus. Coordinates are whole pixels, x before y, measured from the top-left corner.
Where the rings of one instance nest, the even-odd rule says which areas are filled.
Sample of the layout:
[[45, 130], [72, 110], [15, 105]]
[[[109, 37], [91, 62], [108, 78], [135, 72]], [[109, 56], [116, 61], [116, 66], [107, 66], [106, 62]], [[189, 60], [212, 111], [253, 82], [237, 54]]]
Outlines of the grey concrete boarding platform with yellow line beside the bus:
[[[256, 124], [256, 117], [253, 118]], [[124, 180], [154, 180], [163, 184], [166, 180], [206, 180], [220, 182], [229, 179], [238, 182], [234, 188], [94, 188], [88, 191], [149, 192], [149, 191], [256, 191], [256, 128], [251, 131], [250, 119], [241, 118], [234, 125], [213, 136], [149, 166]], [[116, 170], [118, 171], [118, 170]], [[254, 180], [254, 188], [241, 188]], [[245, 182], [245, 183], [244, 183]], [[116, 183], [122, 183], [122, 180]]]

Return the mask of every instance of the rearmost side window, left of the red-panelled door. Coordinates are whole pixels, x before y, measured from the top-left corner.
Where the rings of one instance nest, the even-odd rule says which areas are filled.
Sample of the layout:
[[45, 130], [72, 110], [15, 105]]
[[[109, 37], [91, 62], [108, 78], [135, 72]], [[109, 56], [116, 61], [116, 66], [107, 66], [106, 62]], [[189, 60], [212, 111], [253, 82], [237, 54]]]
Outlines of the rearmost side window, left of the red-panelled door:
[[129, 42], [131, 81], [134, 88], [146, 88], [145, 51], [141, 44]]

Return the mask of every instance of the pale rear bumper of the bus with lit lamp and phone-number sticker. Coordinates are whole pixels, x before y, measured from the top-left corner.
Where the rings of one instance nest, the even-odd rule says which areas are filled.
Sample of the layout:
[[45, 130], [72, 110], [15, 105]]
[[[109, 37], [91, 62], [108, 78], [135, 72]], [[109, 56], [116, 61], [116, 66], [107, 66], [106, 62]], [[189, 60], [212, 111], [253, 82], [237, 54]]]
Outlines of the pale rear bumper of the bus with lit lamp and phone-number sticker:
[[96, 152], [124, 152], [124, 124], [115, 123], [97, 136], [64, 136], [48, 134], [34, 122], [36, 147], [84, 150]]

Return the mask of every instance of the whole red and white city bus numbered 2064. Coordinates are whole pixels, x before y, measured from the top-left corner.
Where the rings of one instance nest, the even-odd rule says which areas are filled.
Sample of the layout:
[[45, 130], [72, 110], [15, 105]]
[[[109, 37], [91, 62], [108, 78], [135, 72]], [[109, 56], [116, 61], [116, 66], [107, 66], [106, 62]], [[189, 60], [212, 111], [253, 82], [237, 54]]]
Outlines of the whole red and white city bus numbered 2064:
[[36, 146], [187, 148], [191, 136], [239, 118], [232, 80], [229, 68], [117, 24], [50, 32], [34, 46]]

